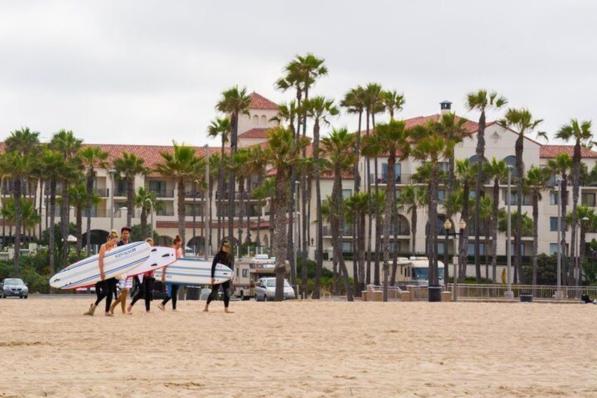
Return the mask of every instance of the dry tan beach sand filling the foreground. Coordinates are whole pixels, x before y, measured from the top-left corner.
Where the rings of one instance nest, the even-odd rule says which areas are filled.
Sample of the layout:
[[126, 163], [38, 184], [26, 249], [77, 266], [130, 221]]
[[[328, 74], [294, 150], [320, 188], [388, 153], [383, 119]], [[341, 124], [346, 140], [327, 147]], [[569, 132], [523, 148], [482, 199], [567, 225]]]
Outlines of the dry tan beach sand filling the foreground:
[[91, 301], [0, 300], [0, 397], [597, 396], [593, 305]]

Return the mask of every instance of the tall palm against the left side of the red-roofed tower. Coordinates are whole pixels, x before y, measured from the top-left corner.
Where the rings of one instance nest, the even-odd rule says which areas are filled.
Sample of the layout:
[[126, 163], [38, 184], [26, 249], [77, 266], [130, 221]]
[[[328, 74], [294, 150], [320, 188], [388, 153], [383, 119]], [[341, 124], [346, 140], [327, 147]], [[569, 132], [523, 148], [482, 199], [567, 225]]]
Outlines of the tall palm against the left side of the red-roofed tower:
[[[249, 105], [251, 104], [251, 97], [246, 94], [246, 87], [239, 89], [234, 86], [222, 92], [222, 98], [215, 106], [218, 111], [230, 115], [230, 149], [232, 155], [237, 153], [238, 138], [239, 138], [239, 117], [241, 115], [249, 115]], [[234, 223], [234, 182], [236, 176], [231, 173], [228, 180], [228, 235], [233, 236], [232, 224]]]

